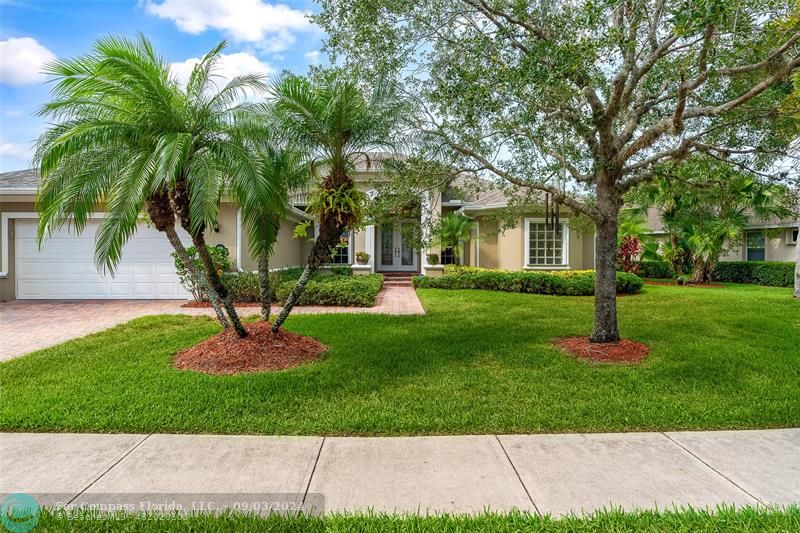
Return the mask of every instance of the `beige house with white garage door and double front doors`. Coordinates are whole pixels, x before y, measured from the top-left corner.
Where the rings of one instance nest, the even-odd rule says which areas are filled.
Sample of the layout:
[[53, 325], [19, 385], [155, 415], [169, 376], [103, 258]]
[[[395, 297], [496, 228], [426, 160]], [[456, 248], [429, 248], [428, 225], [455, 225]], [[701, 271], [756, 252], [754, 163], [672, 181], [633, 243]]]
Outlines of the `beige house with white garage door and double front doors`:
[[[375, 160], [370, 165], [360, 162], [354, 178], [368, 194], [375, 194], [375, 183], [385, 179]], [[94, 235], [102, 212], [80, 236], [65, 225], [39, 249], [35, 209], [38, 183], [36, 170], [0, 174], [0, 300], [187, 297], [175, 275], [167, 239], [144, 223], [123, 249], [114, 277], [99, 273], [94, 262]], [[508, 199], [492, 182], [486, 185], [486, 190], [478, 194], [464, 196], [447, 188], [421, 197], [419, 212], [428, 213], [434, 221], [453, 211], [475, 219], [476, 238], [465, 243], [462, 263], [507, 270], [593, 268], [593, 233], [570, 228], [568, 210], [561, 214], [558, 231], [544, 224], [543, 206], [532, 206], [519, 211], [522, 214], [515, 227], [500, 232], [492, 215], [506, 207]], [[304, 264], [310, 249], [309, 240], [292, 237], [294, 226], [307, 216], [304, 197], [298, 195], [292, 203], [292, 216], [281, 226], [270, 260], [273, 268]], [[419, 225], [420, 219], [400, 218], [344, 235], [345, 245], [336, 249], [331, 263], [352, 265], [355, 273], [440, 275], [442, 265], [428, 265], [427, 254], [436, 253], [441, 262], [447, 262], [451, 251], [439, 246], [415, 249], [407, 237], [410, 232], [403, 231], [409, 224]], [[226, 246], [239, 270], [255, 270], [256, 261], [249, 253], [233, 204], [223, 202], [219, 221], [207, 230], [206, 239], [209, 244]], [[370, 255], [367, 265], [356, 264], [355, 254], [362, 251]]]

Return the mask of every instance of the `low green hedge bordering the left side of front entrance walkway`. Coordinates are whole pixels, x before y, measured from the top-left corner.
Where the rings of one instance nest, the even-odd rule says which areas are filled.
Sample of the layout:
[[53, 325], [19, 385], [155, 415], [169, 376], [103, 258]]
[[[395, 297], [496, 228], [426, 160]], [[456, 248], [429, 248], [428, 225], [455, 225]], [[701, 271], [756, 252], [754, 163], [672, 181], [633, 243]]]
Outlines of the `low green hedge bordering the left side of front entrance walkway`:
[[[281, 283], [277, 288], [277, 301], [285, 302], [294, 285], [295, 281], [292, 280]], [[383, 288], [381, 274], [316, 276], [308, 282], [298, 305], [372, 307], [381, 288]]]

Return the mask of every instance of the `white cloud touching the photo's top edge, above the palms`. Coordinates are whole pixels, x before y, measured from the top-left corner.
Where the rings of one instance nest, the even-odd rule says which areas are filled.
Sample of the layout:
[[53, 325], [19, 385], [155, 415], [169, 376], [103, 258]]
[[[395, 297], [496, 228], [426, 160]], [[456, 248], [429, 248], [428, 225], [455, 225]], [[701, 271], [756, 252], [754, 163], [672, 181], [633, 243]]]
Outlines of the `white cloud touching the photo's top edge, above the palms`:
[[284, 41], [291, 32], [314, 28], [306, 12], [264, 0], [147, 0], [145, 9], [174, 21], [183, 32], [199, 34], [213, 28], [244, 42], [268, 37]]

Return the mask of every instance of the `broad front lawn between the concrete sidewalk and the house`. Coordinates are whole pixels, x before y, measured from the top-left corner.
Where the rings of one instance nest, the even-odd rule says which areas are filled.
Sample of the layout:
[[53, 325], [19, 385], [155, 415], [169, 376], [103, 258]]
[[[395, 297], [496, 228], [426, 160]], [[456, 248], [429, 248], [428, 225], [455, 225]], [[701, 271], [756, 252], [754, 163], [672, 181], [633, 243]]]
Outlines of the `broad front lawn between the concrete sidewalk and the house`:
[[[398, 435], [800, 425], [800, 301], [791, 291], [646, 286], [619, 299], [636, 366], [589, 364], [592, 298], [421, 290], [426, 316], [295, 315], [319, 363], [217, 377], [172, 368], [215, 333], [158, 316], [0, 364], [5, 431]], [[58, 320], [57, 316], [46, 317]], [[24, 331], [19, 334], [24, 335]]]

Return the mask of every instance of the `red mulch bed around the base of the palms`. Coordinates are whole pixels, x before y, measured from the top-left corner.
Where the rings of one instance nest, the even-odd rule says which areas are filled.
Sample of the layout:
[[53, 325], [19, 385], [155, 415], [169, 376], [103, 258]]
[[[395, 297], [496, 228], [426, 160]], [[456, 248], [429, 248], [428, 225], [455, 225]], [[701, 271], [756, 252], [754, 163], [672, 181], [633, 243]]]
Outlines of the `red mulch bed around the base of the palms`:
[[249, 335], [240, 339], [233, 328], [175, 354], [180, 370], [228, 375], [284, 370], [316, 361], [326, 350], [316, 339], [281, 330], [272, 333], [268, 322], [245, 325]]

